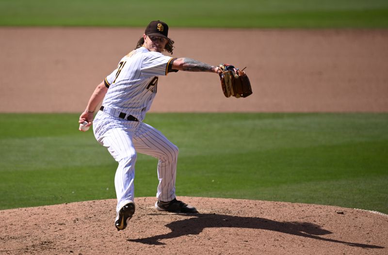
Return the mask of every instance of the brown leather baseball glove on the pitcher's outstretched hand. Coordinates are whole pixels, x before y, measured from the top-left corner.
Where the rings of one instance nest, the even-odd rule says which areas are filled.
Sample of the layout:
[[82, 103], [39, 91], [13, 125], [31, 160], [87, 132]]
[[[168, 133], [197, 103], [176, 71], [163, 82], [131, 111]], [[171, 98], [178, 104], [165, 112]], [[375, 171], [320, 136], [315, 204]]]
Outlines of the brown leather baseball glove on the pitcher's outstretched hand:
[[231, 64], [219, 64], [221, 87], [226, 97], [247, 97], [252, 94], [251, 82], [248, 76]]

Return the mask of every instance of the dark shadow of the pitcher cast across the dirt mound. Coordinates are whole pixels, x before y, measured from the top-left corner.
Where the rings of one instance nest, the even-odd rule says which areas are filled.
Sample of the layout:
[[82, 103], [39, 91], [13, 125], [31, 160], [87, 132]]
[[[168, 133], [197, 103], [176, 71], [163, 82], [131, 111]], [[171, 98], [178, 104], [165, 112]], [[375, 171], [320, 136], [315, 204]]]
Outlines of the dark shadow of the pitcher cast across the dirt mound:
[[[159, 215], [159, 214], [154, 214]], [[140, 242], [150, 245], [163, 245], [163, 239], [178, 238], [185, 235], [198, 235], [203, 229], [208, 227], [236, 227], [271, 230], [294, 236], [318, 239], [322, 241], [343, 243], [349, 246], [361, 248], [382, 249], [385, 247], [369, 245], [363, 243], [353, 243], [335, 239], [323, 238], [320, 236], [332, 234], [332, 232], [322, 229], [319, 225], [308, 222], [277, 222], [258, 217], [238, 217], [222, 214], [182, 214], [195, 216], [189, 219], [168, 223], [165, 226], [171, 229], [168, 234], [157, 235], [142, 239], [127, 239], [128, 241]]]

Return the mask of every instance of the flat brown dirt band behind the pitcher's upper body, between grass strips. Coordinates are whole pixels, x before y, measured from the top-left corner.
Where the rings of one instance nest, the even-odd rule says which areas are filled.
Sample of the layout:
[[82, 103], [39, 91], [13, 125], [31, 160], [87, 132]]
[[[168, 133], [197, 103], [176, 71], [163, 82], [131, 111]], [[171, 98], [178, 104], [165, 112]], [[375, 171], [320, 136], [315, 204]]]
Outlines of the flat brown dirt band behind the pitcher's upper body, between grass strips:
[[[81, 112], [143, 29], [0, 28], [0, 112]], [[253, 95], [216, 74], [161, 77], [152, 112], [388, 112], [388, 30], [174, 29], [173, 57], [247, 67]], [[168, 53], [167, 53], [168, 54]]]

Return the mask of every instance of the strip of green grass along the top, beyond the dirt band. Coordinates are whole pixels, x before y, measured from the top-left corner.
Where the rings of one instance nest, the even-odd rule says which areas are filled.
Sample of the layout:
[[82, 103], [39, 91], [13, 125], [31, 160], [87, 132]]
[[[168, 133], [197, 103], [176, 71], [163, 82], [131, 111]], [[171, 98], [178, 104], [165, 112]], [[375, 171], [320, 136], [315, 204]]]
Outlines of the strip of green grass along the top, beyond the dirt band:
[[0, 26], [387, 28], [387, 0], [0, 0]]

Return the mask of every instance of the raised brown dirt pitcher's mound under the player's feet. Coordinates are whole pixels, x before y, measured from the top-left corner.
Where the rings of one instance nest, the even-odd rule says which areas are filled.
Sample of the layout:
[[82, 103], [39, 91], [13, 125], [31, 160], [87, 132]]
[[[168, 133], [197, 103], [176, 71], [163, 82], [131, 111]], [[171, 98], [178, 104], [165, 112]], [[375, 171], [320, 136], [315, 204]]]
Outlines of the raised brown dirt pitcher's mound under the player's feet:
[[388, 217], [350, 208], [178, 197], [199, 214], [135, 199], [127, 229], [116, 200], [0, 211], [0, 254], [387, 254]]

